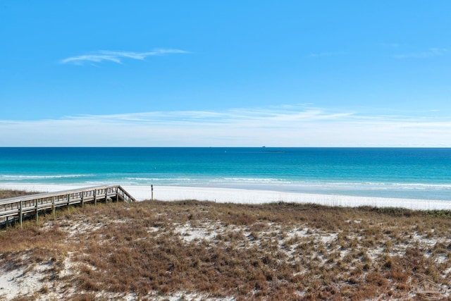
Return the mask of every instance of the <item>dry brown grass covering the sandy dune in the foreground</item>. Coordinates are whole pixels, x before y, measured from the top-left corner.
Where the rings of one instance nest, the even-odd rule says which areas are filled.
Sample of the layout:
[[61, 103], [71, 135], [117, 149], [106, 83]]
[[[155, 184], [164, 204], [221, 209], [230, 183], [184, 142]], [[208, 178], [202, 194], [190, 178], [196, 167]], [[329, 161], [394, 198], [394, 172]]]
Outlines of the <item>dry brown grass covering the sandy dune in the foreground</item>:
[[314, 204], [99, 204], [0, 233], [5, 271], [47, 266], [17, 300], [447, 297], [450, 251], [449, 211]]

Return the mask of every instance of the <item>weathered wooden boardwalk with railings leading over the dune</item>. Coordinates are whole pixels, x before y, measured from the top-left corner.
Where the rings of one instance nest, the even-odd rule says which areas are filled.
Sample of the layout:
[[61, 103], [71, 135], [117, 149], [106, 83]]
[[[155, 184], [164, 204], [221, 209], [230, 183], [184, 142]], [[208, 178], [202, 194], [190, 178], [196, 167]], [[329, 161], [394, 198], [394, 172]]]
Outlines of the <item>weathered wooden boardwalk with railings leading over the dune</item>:
[[80, 188], [75, 190], [64, 190], [58, 192], [40, 193], [38, 195], [25, 195], [23, 197], [12, 197], [0, 199], [0, 223], [11, 223], [18, 221], [22, 226], [25, 217], [36, 216], [39, 219], [39, 211], [53, 211], [58, 207], [70, 207], [70, 205], [86, 203], [97, 204], [97, 202], [123, 201], [136, 202], [135, 198], [126, 192], [120, 185], [97, 186]]

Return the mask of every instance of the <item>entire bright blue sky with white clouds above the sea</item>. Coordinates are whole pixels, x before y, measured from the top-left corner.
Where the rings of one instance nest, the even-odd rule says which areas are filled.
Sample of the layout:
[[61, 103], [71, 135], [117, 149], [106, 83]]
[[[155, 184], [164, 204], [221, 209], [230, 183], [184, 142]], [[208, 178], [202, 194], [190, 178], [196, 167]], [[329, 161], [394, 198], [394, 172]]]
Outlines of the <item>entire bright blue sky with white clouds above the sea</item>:
[[0, 2], [0, 146], [451, 147], [451, 1]]

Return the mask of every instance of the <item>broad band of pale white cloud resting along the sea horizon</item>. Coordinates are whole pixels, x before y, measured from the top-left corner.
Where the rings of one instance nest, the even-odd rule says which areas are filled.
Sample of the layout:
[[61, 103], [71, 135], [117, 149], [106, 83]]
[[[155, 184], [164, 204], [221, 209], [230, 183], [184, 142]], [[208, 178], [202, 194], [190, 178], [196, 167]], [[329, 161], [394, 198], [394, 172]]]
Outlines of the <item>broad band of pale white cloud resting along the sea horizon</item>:
[[451, 147], [450, 120], [304, 107], [154, 111], [0, 121], [0, 146]]

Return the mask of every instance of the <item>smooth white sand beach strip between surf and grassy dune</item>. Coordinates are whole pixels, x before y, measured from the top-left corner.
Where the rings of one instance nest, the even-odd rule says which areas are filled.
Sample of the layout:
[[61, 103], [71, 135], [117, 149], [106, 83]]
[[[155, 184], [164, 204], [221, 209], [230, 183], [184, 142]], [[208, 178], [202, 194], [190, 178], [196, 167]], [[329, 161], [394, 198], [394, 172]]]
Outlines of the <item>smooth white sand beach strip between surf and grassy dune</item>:
[[[36, 192], [56, 192], [76, 188], [86, 188], [86, 184], [0, 184], [1, 190], [25, 190]], [[150, 185], [121, 185], [135, 199], [151, 199]], [[176, 201], [197, 199], [199, 201], [230, 202], [236, 204], [264, 204], [272, 202], [314, 203], [332, 207], [401, 207], [414, 210], [451, 210], [451, 202], [434, 199], [408, 199], [389, 197], [355, 197], [348, 195], [321, 195], [302, 192], [280, 192], [276, 190], [247, 190], [238, 188], [198, 188], [180, 186], [155, 186], [154, 199]]]

